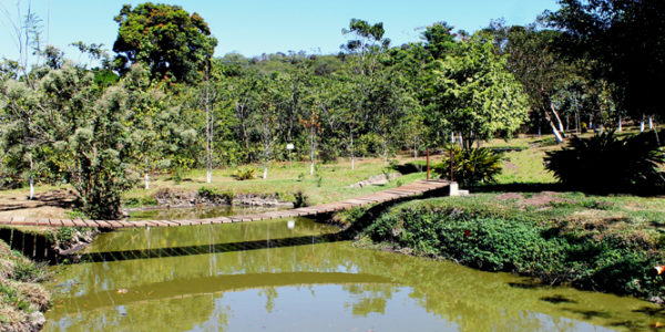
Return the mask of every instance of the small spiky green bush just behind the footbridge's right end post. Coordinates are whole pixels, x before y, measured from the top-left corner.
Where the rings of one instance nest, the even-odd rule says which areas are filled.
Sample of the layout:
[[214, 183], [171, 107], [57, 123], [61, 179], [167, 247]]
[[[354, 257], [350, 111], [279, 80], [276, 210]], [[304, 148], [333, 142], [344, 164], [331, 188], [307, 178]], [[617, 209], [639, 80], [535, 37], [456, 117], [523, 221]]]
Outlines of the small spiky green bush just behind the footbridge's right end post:
[[[450, 152], [448, 149], [442, 162], [432, 166], [432, 170], [441, 178], [450, 178]], [[453, 179], [463, 187], [493, 183], [501, 173], [501, 155], [484, 147], [460, 149], [454, 146], [452, 160]]]

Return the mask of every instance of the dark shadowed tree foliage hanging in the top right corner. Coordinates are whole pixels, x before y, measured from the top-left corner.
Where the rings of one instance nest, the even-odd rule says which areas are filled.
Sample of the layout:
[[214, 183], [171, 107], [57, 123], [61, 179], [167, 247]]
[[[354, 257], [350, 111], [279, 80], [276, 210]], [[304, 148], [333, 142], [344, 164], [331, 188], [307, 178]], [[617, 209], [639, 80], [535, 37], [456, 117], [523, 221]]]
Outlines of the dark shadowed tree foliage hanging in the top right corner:
[[560, 0], [548, 13], [559, 28], [559, 46], [571, 59], [591, 62], [594, 79], [610, 83], [617, 107], [634, 117], [665, 116], [665, 2], [659, 0]]

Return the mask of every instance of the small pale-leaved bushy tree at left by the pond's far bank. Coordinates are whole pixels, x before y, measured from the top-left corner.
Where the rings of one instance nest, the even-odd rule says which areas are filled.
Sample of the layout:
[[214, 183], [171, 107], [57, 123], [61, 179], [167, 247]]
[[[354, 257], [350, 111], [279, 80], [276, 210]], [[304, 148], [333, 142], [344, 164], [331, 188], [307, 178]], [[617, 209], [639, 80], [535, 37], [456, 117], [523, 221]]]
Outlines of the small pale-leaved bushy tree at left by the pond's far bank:
[[120, 195], [133, 183], [127, 163], [134, 142], [124, 87], [102, 91], [92, 73], [70, 65], [50, 71], [34, 91], [10, 81], [2, 89], [10, 112], [0, 133], [8, 153], [21, 158], [30, 143], [13, 139], [13, 128], [29, 124], [24, 129], [39, 143], [48, 174], [72, 185], [82, 210], [91, 218], [119, 218]]

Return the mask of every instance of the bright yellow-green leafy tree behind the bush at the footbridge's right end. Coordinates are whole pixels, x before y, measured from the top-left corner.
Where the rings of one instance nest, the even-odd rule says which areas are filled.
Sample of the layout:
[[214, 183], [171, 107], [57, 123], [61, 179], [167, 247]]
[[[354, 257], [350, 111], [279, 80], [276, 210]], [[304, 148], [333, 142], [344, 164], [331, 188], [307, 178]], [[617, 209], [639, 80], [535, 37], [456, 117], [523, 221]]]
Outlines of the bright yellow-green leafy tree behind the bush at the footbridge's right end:
[[493, 52], [493, 39], [478, 32], [456, 52], [437, 60], [427, 110], [462, 136], [466, 148], [497, 133], [510, 135], [525, 121], [526, 95], [507, 70], [505, 56]]

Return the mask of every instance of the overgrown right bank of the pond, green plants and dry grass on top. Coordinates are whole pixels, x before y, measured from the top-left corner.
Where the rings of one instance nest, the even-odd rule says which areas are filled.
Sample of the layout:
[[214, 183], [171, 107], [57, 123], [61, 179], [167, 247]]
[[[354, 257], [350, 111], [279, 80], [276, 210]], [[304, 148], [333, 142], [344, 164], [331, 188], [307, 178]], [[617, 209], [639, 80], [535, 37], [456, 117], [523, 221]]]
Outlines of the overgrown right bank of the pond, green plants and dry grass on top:
[[481, 194], [341, 216], [360, 243], [510, 271], [549, 284], [662, 302], [665, 261], [658, 198], [583, 194]]

